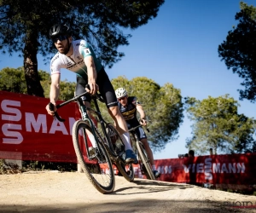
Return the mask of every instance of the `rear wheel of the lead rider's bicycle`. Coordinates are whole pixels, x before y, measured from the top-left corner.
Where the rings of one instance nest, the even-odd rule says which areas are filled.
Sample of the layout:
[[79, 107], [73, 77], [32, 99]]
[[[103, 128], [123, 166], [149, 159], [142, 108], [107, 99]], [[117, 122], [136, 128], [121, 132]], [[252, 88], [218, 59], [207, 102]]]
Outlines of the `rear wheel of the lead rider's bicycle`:
[[115, 129], [113, 124], [107, 124], [106, 130], [111, 141], [110, 149], [117, 156], [114, 164], [119, 170], [119, 173], [125, 177], [127, 181], [134, 180], [134, 170], [132, 164], [125, 163], [125, 144], [119, 135], [118, 130]]

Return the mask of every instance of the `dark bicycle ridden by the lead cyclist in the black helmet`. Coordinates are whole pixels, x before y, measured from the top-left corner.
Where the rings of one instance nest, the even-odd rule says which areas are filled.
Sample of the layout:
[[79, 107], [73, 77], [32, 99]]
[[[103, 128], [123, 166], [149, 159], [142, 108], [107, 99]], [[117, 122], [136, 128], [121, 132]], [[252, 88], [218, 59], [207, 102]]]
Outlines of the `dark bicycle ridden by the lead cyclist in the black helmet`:
[[[58, 104], [56, 108], [63, 107], [70, 102], [76, 101], [79, 105], [82, 119], [73, 124], [73, 147], [81, 165], [82, 170], [88, 177], [90, 182], [100, 193], [112, 193], [115, 186], [115, 178], [113, 172], [113, 164], [118, 168], [119, 172], [127, 181], [133, 181], [134, 171], [132, 164], [125, 163], [125, 144], [122, 141], [119, 132], [113, 124], [107, 123], [103, 118], [98, 106], [97, 100], [104, 102], [99, 94], [92, 95], [92, 100], [95, 103], [96, 110], [85, 107], [81, 97], [87, 94], [84, 92], [72, 99]], [[54, 106], [49, 103], [49, 109], [53, 110]], [[93, 120], [89, 117], [88, 112], [96, 115], [96, 118], [101, 124], [102, 134], [96, 128]], [[55, 112], [54, 117], [60, 122], [65, 119], [61, 118], [58, 112]], [[108, 133], [107, 133], [108, 131]], [[96, 148], [94, 152], [90, 152], [90, 141], [88, 134], [90, 132], [95, 137]], [[110, 135], [110, 133], [112, 135]], [[103, 136], [102, 136], [103, 135]], [[114, 136], [115, 141], [112, 141], [110, 136]], [[114, 143], [112, 143], [114, 142]]]

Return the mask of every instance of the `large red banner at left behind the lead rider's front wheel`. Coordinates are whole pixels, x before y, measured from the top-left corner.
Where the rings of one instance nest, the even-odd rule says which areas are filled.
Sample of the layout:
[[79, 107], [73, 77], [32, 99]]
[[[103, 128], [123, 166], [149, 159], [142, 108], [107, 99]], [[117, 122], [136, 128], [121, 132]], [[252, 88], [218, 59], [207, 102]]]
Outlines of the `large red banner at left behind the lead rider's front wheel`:
[[80, 118], [78, 106], [60, 108], [66, 119], [61, 123], [47, 114], [48, 103], [46, 98], [0, 91], [0, 158], [77, 162], [72, 128]]

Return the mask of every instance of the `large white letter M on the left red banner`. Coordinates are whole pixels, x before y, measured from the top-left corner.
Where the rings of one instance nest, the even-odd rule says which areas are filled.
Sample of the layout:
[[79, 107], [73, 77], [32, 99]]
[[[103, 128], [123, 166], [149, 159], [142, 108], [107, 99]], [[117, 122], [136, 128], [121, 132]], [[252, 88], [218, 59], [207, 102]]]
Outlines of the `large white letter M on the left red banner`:
[[32, 127], [35, 132], [39, 132], [42, 126], [42, 133], [47, 133], [46, 115], [38, 114], [38, 120], [36, 120], [33, 113], [26, 112], [26, 131], [32, 132]]

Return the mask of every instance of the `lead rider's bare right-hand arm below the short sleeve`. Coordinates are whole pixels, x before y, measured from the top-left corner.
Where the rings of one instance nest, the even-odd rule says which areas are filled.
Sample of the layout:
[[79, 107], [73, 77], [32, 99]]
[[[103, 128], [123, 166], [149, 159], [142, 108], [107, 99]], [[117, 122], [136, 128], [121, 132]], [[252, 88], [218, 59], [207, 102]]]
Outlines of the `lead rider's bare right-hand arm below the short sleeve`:
[[91, 55], [84, 58], [84, 64], [87, 67], [88, 84], [90, 85], [90, 92], [95, 94], [98, 90], [96, 85], [97, 72], [94, 64], [93, 57]]

